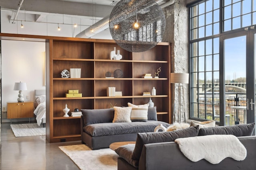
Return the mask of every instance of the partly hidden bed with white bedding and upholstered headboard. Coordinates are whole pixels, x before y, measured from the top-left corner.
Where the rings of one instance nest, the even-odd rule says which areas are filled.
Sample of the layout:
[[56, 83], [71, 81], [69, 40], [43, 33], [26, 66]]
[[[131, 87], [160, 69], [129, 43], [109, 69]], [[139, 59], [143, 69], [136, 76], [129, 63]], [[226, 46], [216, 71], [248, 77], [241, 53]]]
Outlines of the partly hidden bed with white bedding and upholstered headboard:
[[34, 114], [36, 115], [36, 122], [38, 126], [46, 123], [46, 92], [45, 90], [35, 90], [34, 96]]

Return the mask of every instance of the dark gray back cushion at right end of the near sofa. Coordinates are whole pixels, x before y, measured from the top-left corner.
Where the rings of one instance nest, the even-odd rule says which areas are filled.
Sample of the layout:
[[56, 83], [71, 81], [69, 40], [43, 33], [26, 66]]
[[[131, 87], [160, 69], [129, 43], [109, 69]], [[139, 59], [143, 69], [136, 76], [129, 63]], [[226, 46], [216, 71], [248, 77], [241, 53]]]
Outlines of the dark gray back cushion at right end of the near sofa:
[[199, 129], [198, 136], [203, 135], [234, 135], [251, 136], [254, 130], [255, 123], [239, 124], [230, 126], [216, 126]]

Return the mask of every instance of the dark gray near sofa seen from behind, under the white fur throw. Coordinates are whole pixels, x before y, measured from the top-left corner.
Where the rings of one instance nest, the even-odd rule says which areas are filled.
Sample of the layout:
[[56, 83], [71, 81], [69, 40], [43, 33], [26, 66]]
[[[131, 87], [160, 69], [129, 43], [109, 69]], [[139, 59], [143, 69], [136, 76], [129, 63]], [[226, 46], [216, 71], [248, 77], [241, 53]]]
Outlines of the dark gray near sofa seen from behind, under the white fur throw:
[[[118, 170], [254, 170], [256, 167], [256, 136], [250, 136], [254, 123], [226, 127], [208, 127], [198, 129], [189, 127], [172, 132], [138, 133], [135, 145], [124, 145], [116, 149]], [[196, 132], [197, 131], [197, 132]], [[200, 133], [199, 133], [200, 131]], [[190, 161], [180, 151], [177, 138], [198, 135], [235, 135], [247, 150], [244, 160], [225, 158], [218, 164], [202, 159]], [[216, 148], [217, 149], [217, 148]]]

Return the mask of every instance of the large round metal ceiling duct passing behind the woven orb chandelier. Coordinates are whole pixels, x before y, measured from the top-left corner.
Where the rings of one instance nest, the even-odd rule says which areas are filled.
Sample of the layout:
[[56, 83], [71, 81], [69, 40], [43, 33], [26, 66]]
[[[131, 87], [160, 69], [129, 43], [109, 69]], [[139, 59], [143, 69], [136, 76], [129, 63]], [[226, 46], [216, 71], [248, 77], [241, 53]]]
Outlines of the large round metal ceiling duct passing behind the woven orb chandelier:
[[[164, 0], [156, 0], [156, 2], [159, 4]], [[165, 8], [166, 6], [172, 5], [175, 0], [169, 0], [168, 2], [165, 2], [164, 4], [161, 4], [161, 8]], [[100, 33], [101, 31], [104, 31], [109, 27], [109, 16], [104, 17], [102, 20], [94, 23], [91, 27], [86, 28], [84, 31], [78, 33], [76, 35], [77, 38], [90, 38], [93, 35]], [[92, 31], [93, 30], [93, 31]]]

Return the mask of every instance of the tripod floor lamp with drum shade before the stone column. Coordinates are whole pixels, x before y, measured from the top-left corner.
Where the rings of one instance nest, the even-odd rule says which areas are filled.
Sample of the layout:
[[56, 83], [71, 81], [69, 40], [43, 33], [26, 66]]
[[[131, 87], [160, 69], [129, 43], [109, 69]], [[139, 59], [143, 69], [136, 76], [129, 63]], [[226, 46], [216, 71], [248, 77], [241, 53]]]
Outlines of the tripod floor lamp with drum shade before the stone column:
[[[181, 102], [184, 107], [184, 86], [182, 84], [188, 84], [188, 79], [189, 79], [189, 74], [188, 73], [171, 73], [170, 74], [170, 83], [178, 83], [178, 85], [175, 85], [175, 92], [174, 92], [174, 100], [176, 98], [176, 87], [178, 87], [178, 122], [180, 123], [181, 121]], [[182, 90], [182, 101], [181, 101], [181, 90]], [[184, 107], [185, 109], [185, 107]], [[175, 121], [175, 104], [174, 104], [174, 109], [173, 109], [173, 119], [172, 121]], [[184, 111], [184, 121], [186, 121], [185, 117], [185, 111]]]

